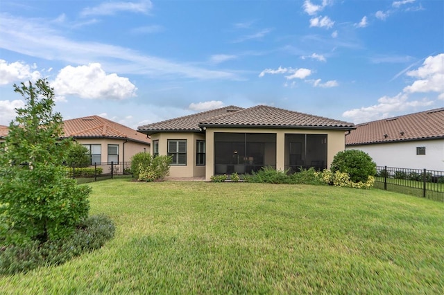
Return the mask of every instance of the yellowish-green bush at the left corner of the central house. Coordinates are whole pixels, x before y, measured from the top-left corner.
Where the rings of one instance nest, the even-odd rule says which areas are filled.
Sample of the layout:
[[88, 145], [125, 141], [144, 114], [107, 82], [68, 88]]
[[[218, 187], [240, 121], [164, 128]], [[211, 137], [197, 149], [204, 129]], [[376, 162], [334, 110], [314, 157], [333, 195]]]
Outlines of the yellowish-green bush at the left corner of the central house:
[[[151, 157], [151, 156], [150, 156]], [[171, 156], [157, 156], [150, 159], [148, 166], [144, 163], [139, 163], [139, 181], [162, 181], [169, 175], [169, 165], [173, 161]]]

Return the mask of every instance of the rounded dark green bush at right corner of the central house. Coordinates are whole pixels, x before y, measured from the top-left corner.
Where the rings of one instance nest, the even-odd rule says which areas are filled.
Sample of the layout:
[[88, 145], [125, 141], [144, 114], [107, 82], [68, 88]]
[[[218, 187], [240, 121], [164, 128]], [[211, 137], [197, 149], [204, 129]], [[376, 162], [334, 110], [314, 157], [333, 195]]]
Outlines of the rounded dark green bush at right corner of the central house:
[[368, 181], [368, 177], [376, 175], [376, 164], [373, 159], [361, 150], [345, 150], [334, 156], [332, 172], [345, 172], [350, 175], [350, 181], [359, 183]]

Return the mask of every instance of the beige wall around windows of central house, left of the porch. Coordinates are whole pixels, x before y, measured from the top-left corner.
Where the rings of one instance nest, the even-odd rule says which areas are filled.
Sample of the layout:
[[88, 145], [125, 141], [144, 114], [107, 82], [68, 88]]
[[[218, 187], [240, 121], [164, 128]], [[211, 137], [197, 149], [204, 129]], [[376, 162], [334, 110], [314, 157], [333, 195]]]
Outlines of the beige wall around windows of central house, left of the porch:
[[[205, 134], [196, 134], [192, 132], [166, 132], [151, 135], [151, 142], [159, 141], [159, 154], [168, 154], [168, 140], [169, 139], [186, 139], [187, 140], [187, 165], [171, 165], [169, 169], [169, 176], [166, 179], [173, 177], [204, 177], [205, 166], [196, 166], [196, 141], [204, 140]], [[208, 146], [208, 145], [207, 145]], [[208, 148], [208, 147], [207, 147]], [[153, 147], [151, 147], [151, 154]], [[208, 150], [206, 151], [208, 154]], [[208, 161], [208, 160], [207, 160]], [[208, 163], [208, 162], [206, 162]]]

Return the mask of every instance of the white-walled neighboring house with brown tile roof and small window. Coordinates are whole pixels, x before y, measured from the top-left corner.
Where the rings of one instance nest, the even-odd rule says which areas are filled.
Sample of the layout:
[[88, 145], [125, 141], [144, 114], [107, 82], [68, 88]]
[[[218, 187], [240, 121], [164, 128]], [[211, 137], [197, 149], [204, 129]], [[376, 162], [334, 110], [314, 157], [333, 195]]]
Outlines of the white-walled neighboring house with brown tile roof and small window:
[[359, 124], [345, 145], [377, 166], [444, 171], [444, 108]]

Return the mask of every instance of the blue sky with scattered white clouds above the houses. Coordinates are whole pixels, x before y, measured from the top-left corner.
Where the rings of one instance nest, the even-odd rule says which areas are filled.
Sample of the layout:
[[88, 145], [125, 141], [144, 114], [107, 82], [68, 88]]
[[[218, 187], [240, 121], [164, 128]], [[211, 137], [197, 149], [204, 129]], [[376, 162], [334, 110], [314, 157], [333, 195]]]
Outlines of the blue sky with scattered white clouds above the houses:
[[1, 125], [37, 78], [64, 119], [271, 105], [362, 123], [444, 107], [444, 1], [2, 0]]

